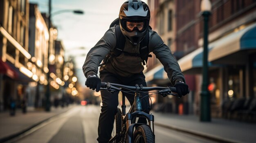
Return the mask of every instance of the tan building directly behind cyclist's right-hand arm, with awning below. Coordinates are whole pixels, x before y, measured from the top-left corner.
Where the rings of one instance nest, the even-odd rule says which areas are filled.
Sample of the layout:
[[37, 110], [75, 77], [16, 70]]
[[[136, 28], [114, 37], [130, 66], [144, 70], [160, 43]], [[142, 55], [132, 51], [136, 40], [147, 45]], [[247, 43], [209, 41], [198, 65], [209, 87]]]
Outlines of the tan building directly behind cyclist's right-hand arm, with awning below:
[[[150, 26], [156, 31], [162, 38], [164, 43], [171, 49], [173, 55], [177, 53], [175, 46], [175, 33], [176, 33], [176, 7], [174, 0], [148, 0], [148, 6], [150, 8], [151, 18]], [[146, 81], [150, 86], [171, 86], [170, 80], [167, 77], [166, 72], [162, 64], [155, 57], [153, 53], [152, 58], [148, 59], [148, 67], [146, 70]], [[176, 56], [176, 55], [175, 55]], [[164, 112], [182, 113], [180, 108], [187, 106], [187, 98], [177, 100], [175, 97], [168, 95], [166, 98], [161, 96], [151, 97], [156, 103], [155, 110]], [[183, 103], [185, 102], [185, 103]], [[186, 104], [186, 105], [185, 105]], [[186, 108], [186, 107], [185, 107]], [[187, 109], [187, 108], [186, 108]], [[188, 110], [184, 110], [187, 113]]]

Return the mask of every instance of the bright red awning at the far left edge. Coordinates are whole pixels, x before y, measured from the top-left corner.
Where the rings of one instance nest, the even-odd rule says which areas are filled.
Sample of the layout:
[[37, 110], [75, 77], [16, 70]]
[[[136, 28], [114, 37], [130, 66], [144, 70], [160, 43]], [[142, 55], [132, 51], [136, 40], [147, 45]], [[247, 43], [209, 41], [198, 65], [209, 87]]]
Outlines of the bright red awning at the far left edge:
[[0, 57], [0, 73], [5, 74], [12, 79], [18, 78], [18, 73], [16, 73], [16, 71], [13, 70], [6, 62], [3, 62], [2, 57]]

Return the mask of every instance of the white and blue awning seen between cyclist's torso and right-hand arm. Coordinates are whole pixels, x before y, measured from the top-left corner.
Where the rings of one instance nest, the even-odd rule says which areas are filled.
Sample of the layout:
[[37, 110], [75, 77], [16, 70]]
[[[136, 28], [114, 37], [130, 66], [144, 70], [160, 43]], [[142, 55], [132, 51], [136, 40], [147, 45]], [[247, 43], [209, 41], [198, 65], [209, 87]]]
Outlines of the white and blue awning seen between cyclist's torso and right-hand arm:
[[167, 73], [164, 71], [164, 66], [162, 64], [145, 73], [145, 77], [146, 82], [149, 84], [166, 84], [169, 81]]

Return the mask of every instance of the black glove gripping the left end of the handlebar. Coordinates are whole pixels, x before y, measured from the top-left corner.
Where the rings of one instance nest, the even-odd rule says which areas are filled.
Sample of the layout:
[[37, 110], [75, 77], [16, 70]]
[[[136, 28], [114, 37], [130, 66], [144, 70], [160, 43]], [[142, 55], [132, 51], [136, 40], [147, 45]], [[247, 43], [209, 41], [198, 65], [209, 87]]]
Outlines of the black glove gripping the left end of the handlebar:
[[90, 88], [92, 90], [96, 89], [96, 92], [99, 92], [99, 90], [101, 88], [101, 79], [97, 75], [88, 74], [85, 85], [88, 88]]

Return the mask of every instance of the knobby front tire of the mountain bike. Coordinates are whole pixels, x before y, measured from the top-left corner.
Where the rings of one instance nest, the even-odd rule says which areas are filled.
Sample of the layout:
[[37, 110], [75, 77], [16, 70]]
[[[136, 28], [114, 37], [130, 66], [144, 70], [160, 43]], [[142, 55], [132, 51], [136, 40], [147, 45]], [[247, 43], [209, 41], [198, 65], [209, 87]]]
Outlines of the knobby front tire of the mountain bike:
[[148, 125], [139, 125], [136, 128], [133, 143], [155, 143], [155, 136]]

